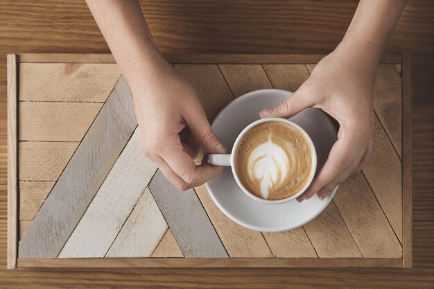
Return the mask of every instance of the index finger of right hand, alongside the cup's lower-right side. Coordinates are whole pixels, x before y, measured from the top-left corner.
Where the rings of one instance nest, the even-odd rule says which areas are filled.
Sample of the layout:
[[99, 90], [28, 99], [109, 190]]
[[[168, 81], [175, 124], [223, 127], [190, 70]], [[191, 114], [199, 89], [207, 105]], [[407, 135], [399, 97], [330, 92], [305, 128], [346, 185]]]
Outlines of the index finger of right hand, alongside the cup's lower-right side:
[[[331, 148], [329, 157], [320, 170], [320, 173], [313, 178], [306, 192], [297, 198], [299, 202], [309, 200], [309, 198], [315, 195], [315, 193], [320, 191], [324, 186], [330, 184], [334, 179], [337, 179], [341, 175], [345, 176], [346, 173], [348, 173], [348, 168], [351, 166], [354, 159], [358, 158], [358, 155], [360, 155], [361, 159], [361, 153], [363, 152], [361, 152], [360, 145], [357, 145], [354, 139], [347, 139], [343, 132], [341, 136], [341, 139], [338, 139], [333, 145], [333, 148]], [[351, 173], [351, 171], [349, 173]]]

